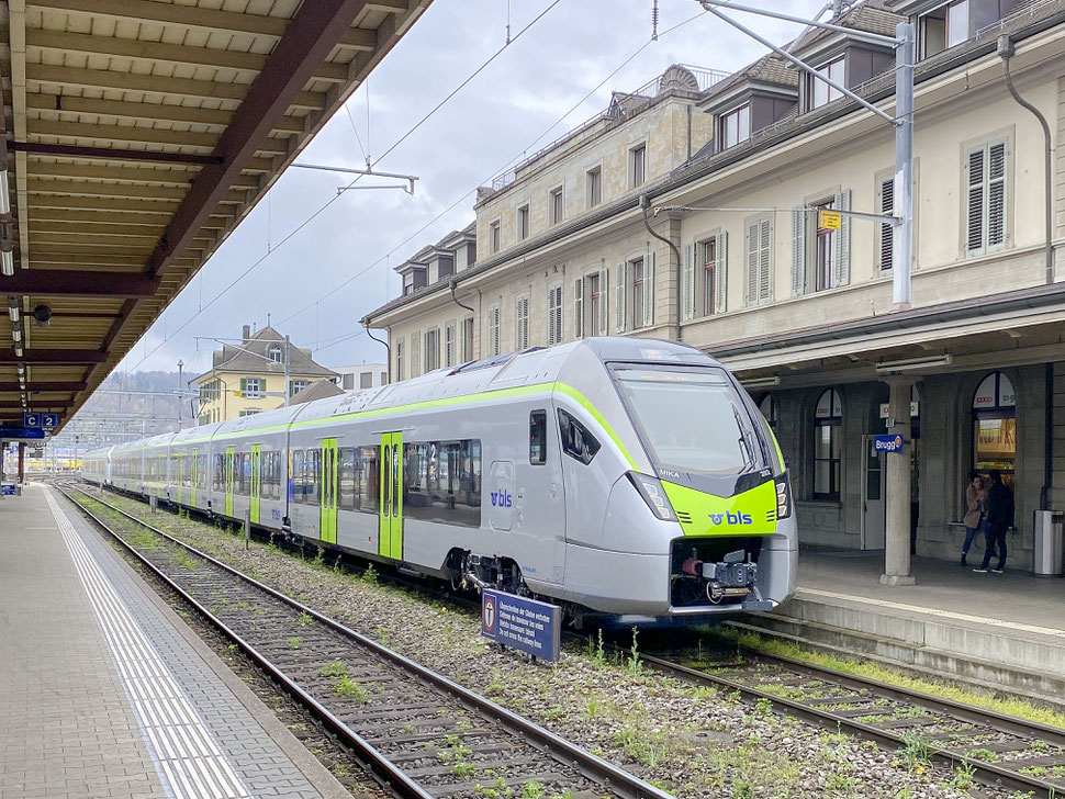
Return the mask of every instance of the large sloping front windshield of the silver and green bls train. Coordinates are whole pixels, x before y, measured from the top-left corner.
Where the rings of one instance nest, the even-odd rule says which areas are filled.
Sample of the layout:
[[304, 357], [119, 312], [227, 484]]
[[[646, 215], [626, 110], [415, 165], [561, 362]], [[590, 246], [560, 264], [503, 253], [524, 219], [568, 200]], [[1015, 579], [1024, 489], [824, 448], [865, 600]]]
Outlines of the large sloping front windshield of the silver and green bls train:
[[658, 465], [710, 474], [759, 465], [756, 434], [720, 370], [617, 368], [614, 374]]

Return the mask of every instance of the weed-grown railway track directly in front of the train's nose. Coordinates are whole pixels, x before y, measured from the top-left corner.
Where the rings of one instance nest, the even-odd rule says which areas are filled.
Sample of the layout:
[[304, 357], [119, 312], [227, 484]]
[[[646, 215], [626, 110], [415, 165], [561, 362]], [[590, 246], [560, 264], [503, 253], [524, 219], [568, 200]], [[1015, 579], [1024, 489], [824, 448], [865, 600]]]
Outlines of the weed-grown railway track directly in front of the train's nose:
[[1057, 728], [787, 657], [748, 652], [738, 662], [692, 665], [699, 660], [693, 655], [642, 657], [665, 674], [738, 691], [907, 757], [962, 765], [988, 787], [1049, 799], [1065, 795], [1065, 731]]

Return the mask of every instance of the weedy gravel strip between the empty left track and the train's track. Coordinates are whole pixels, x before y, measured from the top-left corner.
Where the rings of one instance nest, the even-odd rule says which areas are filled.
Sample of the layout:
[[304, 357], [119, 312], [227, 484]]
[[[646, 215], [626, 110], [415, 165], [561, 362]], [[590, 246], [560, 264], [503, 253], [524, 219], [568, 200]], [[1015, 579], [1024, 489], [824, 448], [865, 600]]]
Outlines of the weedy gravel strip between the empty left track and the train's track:
[[[271, 587], [522, 713], [683, 799], [703, 797], [1002, 796], [964, 775], [885, 752], [710, 688], [604, 655], [594, 641], [531, 664], [480, 635], [449, 601], [301, 560], [195, 519], [112, 503]], [[486, 799], [507, 799], [486, 780]], [[545, 798], [553, 799], [553, 798]]]

